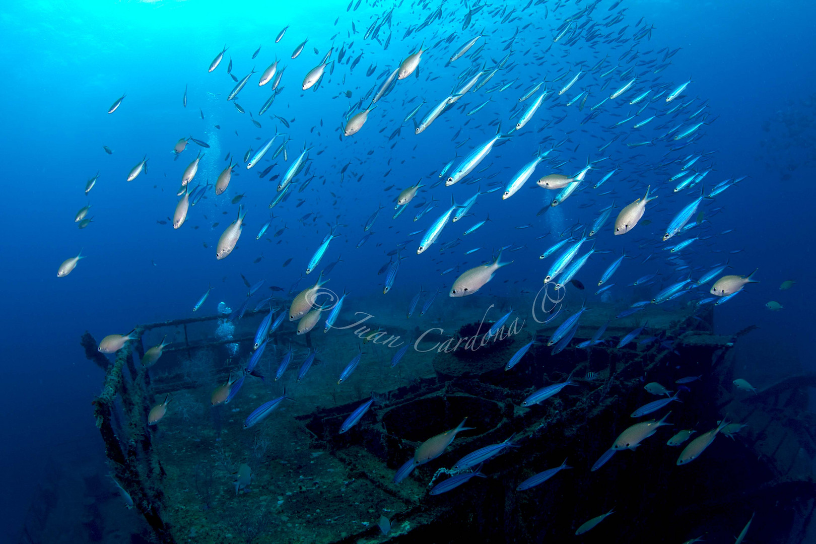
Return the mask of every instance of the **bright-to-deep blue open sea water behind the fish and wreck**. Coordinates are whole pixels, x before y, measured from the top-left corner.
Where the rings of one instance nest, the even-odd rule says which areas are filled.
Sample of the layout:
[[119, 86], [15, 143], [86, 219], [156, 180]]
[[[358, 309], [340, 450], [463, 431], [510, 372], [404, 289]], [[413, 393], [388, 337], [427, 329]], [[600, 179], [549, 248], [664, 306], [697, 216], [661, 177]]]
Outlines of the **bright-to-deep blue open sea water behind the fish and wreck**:
[[[794, 374], [816, 372], [809, 307], [814, 299], [809, 282], [814, 263], [810, 250], [814, 188], [809, 179], [816, 166], [812, 149], [816, 74], [811, 62], [816, 42], [809, 38], [814, 4], [749, 0], [736, 9], [720, 2], [623, 0], [610, 9], [616, 2], [532, 3], [530, 7], [528, 2], [482, 3], [486, 7], [463, 29], [473, 2], [468, 7], [466, 2], [447, 0], [441, 2], [440, 20], [407, 38], [406, 29], [416, 29], [440, 7], [439, 2], [362, 2], [351, 11], [347, 2], [328, 1], [26, 2], [0, 8], [6, 83], [0, 88], [0, 100], [6, 104], [2, 147], [7, 165], [7, 211], [2, 220], [11, 233], [4, 244], [2, 270], [7, 355], [2, 363], [6, 394], [0, 402], [7, 423], [0, 458], [7, 468], [2, 475], [7, 490], [2, 527], [10, 542], [19, 536], [20, 521], [47, 478], [43, 467], [48, 458], [59, 457], [61, 449], [91, 450], [98, 453], [100, 473], [107, 471], [91, 417], [91, 400], [100, 391], [103, 373], [85, 359], [78, 345], [85, 330], [98, 340], [125, 334], [137, 324], [193, 316], [193, 304], [208, 285], [215, 288], [200, 312], [215, 313], [220, 302], [237, 307], [246, 297], [241, 275], [250, 283], [266, 279], [264, 291], [277, 285], [286, 294], [299, 276], [305, 276], [309, 259], [335, 223], [338, 237], [317, 270], [342, 259], [326, 287], [337, 294], [349, 291], [348, 312], [402, 315], [420, 286], [428, 293], [440, 290], [435, 308], [442, 312], [444, 307], [449, 316], [456, 315], [458, 303], [486, 309], [494, 300], [510, 298], [522, 312], [529, 312], [552, 263], [552, 258], [542, 260], [539, 255], [565, 236], [580, 236], [583, 227], [591, 226], [614, 201], [609, 221], [592, 238], [596, 251], [611, 253], [592, 255], [580, 270], [576, 279], [586, 290], [570, 294], [575, 297], [570, 311], [584, 298], [589, 307], [601, 303], [594, 294], [597, 278], [622, 250], [636, 258], [616, 272], [617, 285], [610, 293], [626, 303], [644, 294], [636, 294], [627, 284], [652, 272], [661, 276], [650, 294], [689, 273], [701, 276], [720, 263], [728, 262], [731, 268], [726, 273], [738, 275], [759, 268], [755, 276], [759, 284], [748, 285], [744, 293], [715, 308], [716, 332], [730, 335], [759, 325], [736, 350], [744, 377], [759, 389]], [[390, 21], [377, 38], [364, 38], [370, 25], [389, 11]], [[566, 22], [565, 38], [553, 42], [570, 15], [576, 17]], [[616, 17], [620, 20], [606, 25]], [[589, 20], [592, 24], [585, 25]], [[275, 43], [286, 25], [285, 36]], [[653, 25], [653, 30], [645, 31]], [[483, 28], [487, 38], [449, 63], [450, 56]], [[389, 33], [392, 38], [384, 49]], [[307, 38], [304, 51], [291, 59], [295, 46]], [[505, 47], [510, 42], [512, 46]], [[421, 43], [426, 51], [418, 77], [412, 74], [398, 81], [377, 102], [365, 126], [344, 137], [346, 116], [365, 109], [388, 74]], [[208, 73], [224, 44], [228, 46], [224, 60]], [[339, 61], [341, 48], [346, 52]], [[329, 52], [335, 64], [326, 68], [316, 91], [302, 91], [304, 75]], [[425, 102], [415, 115], [419, 122], [461, 86], [465, 76], [493, 69], [508, 54], [504, 64], [508, 69], [500, 69], [486, 86], [462, 96], [422, 134], [415, 135], [413, 122], [404, 121]], [[354, 62], [357, 55], [361, 60], [351, 69], [348, 60]], [[268, 113], [259, 116], [259, 108], [272, 94], [271, 84], [258, 86], [259, 73], [276, 58], [280, 66], [286, 65], [283, 89]], [[235, 100], [246, 113], [226, 100], [235, 86], [226, 72], [230, 60], [238, 79], [257, 71]], [[601, 77], [616, 65], [610, 76]], [[374, 66], [366, 76], [366, 69]], [[636, 66], [632, 75], [620, 77], [631, 66]], [[659, 73], [654, 73], [656, 69]], [[574, 86], [558, 95], [579, 72], [582, 76]], [[631, 90], [590, 109], [633, 77], [637, 79]], [[605, 86], [609, 78], [612, 81]], [[518, 98], [543, 80], [541, 91], [550, 94], [524, 129], [510, 132], [535, 95], [521, 104]], [[692, 83], [681, 98], [667, 104], [667, 93], [688, 80]], [[503, 84], [510, 85], [499, 91]], [[636, 120], [650, 115], [655, 119], [639, 129], [633, 128], [636, 120], [610, 128], [635, 115], [645, 103], [629, 102], [650, 88], [653, 96], [664, 94], [650, 98], [654, 102]], [[565, 105], [582, 91], [588, 92], [586, 104], [579, 108], [579, 100]], [[121, 106], [107, 113], [122, 94], [126, 97]], [[488, 99], [480, 111], [466, 115]], [[684, 107], [669, 113], [676, 104]], [[700, 108], [703, 112], [689, 119]], [[597, 117], [586, 121], [594, 111], [599, 112]], [[250, 112], [260, 127], [253, 124]], [[659, 138], [680, 126], [671, 133], [676, 135], [697, 120], [706, 124], [694, 135]], [[444, 183], [431, 187], [440, 181], [439, 173], [449, 161], [455, 159], [456, 166], [472, 148], [490, 139], [499, 123], [509, 138], [477, 171], [450, 188]], [[399, 134], [393, 135], [398, 128]], [[247, 150], [257, 150], [276, 130], [286, 133], [288, 160], [283, 155], [267, 157], [246, 170]], [[174, 161], [173, 145], [191, 135], [209, 148], [191, 142]], [[282, 141], [273, 144], [269, 157]], [[627, 145], [645, 141], [652, 144]], [[557, 144], [534, 177], [503, 201], [504, 185], [512, 175], [539, 148]], [[682, 144], [689, 145], [680, 148]], [[106, 153], [103, 146], [113, 153]], [[311, 148], [308, 170], [295, 178], [290, 197], [270, 210], [277, 183], [304, 147]], [[228, 153], [238, 166], [228, 191], [216, 197], [210, 186], [206, 197], [191, 207], [184, 225], [174, 230], [168, 217], [175, 210], [181, 174], [199, 151], [204, 158], [193, 186], [215, 184], [228, 164], [224, 161]], [[126, 182], [128, 171], [145, 155], [148, 171]], [[674, 192], [676, 183], [668, 179], [697, 155], [702, 157], [691, 170], [701, 174], [708, 170], [707, 175], [694, 188]], [[579, 192], [537, 215], [552, 192], [537, 187], [535, 180], [548, 173], [574, 175], [588, 161], [593, 170]], [[276, 162], [263, 179], [256, 175]], [[614, 168], [619, 170], [605, 185], [592, 188]], [[86, 180], [97, 172], [99, 179], [86, 197]], [[275, 175], [277, 179], [270, 180]], [[700, 188], [707, 193], [725, 179], [741, 176], [747, 177], [703, 201], [700, 210], [707, 224], [661, 241], [665, 226]], [[481, 179], [474, 181], [477, 178]], [[308, 188], [299, 192], [308, 179]], [[416, 200], [392, 219], [397, 194], [420, 179], [425, 187]], [[615, 237], [615, 216], [642, 197], [647, 185], [658, 195], [644, 215], [650, 223]], [[486, 193], [489, 188], [499, 190]], [[482, 194], [472, 215], [450, 223], [428, 252], [416, 254], [419, 240], [446, 210], [451, 195], [462, 204], [477, 189]], [[242, 237], [232, 254], [216, 260], [220, 234], [238, 213], [232, 200], [244, 193]], [[415, 203], [432, 197], [437, 206], [414, 221], [422, 209]], [[73, 216], [87, 203], [93, 222], [78, 229]], [[358, 248], [366, 235], [366, 220], [380, 205], [370, 239]], [[487, 215], [489, 223], [463, 236]], [[272, 217], [266, 236], [256, 240], [261, 225]], [[284, 227], [281, 236], [273, 236]], [[410, 234], [415, 231], [421, 232]], [[664, 248], [690, 237], [700, 240], [681, 251], [678, 260], [667, 260], [673, 255]], [[457, 238], [462, 240], [459, 245], [438, 251], [437, 246]], [[398, 247], [406, 259], [392, 289], [383, 294], [385, 274], [377, 272], [396, 259], [388, 252]], [[489, 262], [502, 247], [503, 260], [513, 263], [500, 268], [473, 295], [476, 303], [447, 296], [459, 274]], [[465, 254], [476, 248], [481, 249]], [[60, 263], [80, 250], [86, 259], [69, 276], [57, 278]], [[283, 266], [287, 259], [290, 263]], [[441, 275], [448, 268], [455, 270]], [[300, 280], [295, 294], [313, 284], [317, 273]], [[796, 284], [780, 290], [783, 281], [790, 280]], [[707, 296], [709, 287], [667, 304], [685, 306]], [[783, 309], [769, 310], [770, 301]], [[497, 308], [492, 312], [491, 319], [500, 316]], [[282, 326], [295, 325], [286, 321]], [[322, 329], [322, 322], [318, 327]], [[346, 360], [351, 355], [344, 352], [339, 357]]]

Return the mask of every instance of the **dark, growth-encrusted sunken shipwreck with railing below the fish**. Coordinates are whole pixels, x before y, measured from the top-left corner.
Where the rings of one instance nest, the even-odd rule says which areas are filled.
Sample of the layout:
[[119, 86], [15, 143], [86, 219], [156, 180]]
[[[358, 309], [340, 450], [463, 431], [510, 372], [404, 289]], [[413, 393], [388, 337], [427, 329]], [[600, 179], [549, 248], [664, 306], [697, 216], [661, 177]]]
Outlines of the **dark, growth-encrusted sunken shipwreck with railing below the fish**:
[[[113, 365], [106, 367], [104, 387], [95, 400], [95, 418], [117, 479], [131, 493], [157, 539], [167, 544], [190, 539], [223, 542], [225, 537], [242, 542], [461, 542], [467, 537], [498, 542], [508, 535], [535, 542], [544, 534], [565, 538], [574, 532], [568, 520], [613, 505], [622, 516], [637, 520], [632, 528], [619, 529], [619, 536], [637, 539], [659, 530], [649, 520], [654, 505], [636, 503], [642, 496], [659, 497], [661, 507], [674, 509], [702, 528], [728, 510], [736, 494], [758, 504], [784, 498], [793, 505], [813, 491], [812, 476], [800, 470], [797, 456], [790, 462], [779, 451], [794, 448], [793, 440], [800, 444], [796, 448], [806, 454], [804, 458], [813, 459], [816, 454], [808, 427], [793, 424], [800, 421], [796, 418], [802, 407], [791, 393], [814, 378], [778, 384], [756, 396], [734, 396], [730, 382], [739, 334], [712, 334], [710, 316], [706, 317], [664, 316], [659, 338], [621, 348], [614, 347], [614, 342], [591, 349], [570, 346], [552, 355], [551, 347], [538, 343], [512, 371], [504, 370], [509, 356], [533, 335], [547, 338], [552, 327], [524, 331], [512, 347], [496, 343], [491, 350], [473, 350], [463, 357], [431, 349], [444, 342], [442, 338], [425, 338], [420, 351], [432, 365], [421, 374], [403, 369], [405, 362], [390, 372], [387, 366], [369, 366], [367, 380], [357, 375], [359, 381], [345, 387], [336, 387], [332, 363], [322, 363], [313, 369], [311, 383], [290, 382], [287, 395], [298, 402], [282, 407], [277, 418], [270, 418], [274, 421], [269, 427], [251, 430], [242, 428], [243, 419], [247, 410], [268, 400], [268, 387], [257, 382], [245, 385], [243, 404], [215, 407], [209, 406], [207, 390], [215, 382], [223, 383], [237, 365], [232, 358], [220, 361], [224, 347], [239, 344], [235, 358], [240, 358], [249, 352], [251, 337], [236, 334], [236, 338], [193, 343], [184, 330], [183, 345], [166, 350], [170, 369], [163, 374], [151, 376], [147, 369], [137, 368], [133, 353], [143, 353], [144, 347], [141, 340], [127, 343]], [[151, 329], [183, 329], [189, 323], [143, 325], [137, 334], [142, 338]], [[610, 325], [608, 335], [622, 337], [632, 323]], [[590, 321], [582, 325], [574, 344], [590, 338], [597, 325]], [[467, 333], [459, 330], [460, 336]], [[357, 351], [357, 337], [349, 336], [344, 352]], [[308, 338], [290, 334], [274, 340], [278, 346], [301, 351], [310, 345]], [[95, 345], [89, 334], [82, 343]], [[391, 354], [373, 343], [364, 350], [382, 360]], [[98, 357], [87, 347], [86, 353], [96, 362]], [[277, 353], [267, 365], [277, 365], [281, 355]], [[335, 354], [327, 354], [326, 359], [335, 359]], [[202, 388], [201, 380], [173, 370], [193, 361], [210, 365], [206, 376], [215, 382], [205, 381]], [[707, 453], [717, 466], [716, 474], [704, 471], [703, 463], [675, 467], [679, 452], [667, 448], [665, 438], [663, 444], [655, 439], [636, 453], [619, 453], [597, 472], [589, 471], [614, 436], [631, 424], [632, 409], [654, 400], [644, 391], [644, 376], [674, 385], [676, 378], [689, 374], [707, 378], [694, 383], [694, 394], [684, 396], [682, 409], [669, 407], [673, 428], [694, 427], [701, 420], [708, 424], [717, 414], [759, 421], [781, 407], [790, 417], [783, 422], [782, 441], [774, 442], [777, 452], [769, 451], [770, 423], [761, 427], [751, 422], [740, 441], [718, 439], [725, 453]], [[388, 375], [392, 378], [382, 378]], [[534, 389], [567, 378], [574, 387], [565, 387], [540, 405], [521, 406]], [[340, 434], [341, 424], [370, 398], [371, 389], [376, 391], [373, 408], [350, 431]], [[167, 392], [178, 396], [177, 424], [147, 427], [150, 405]], [[455, 427], [463, 418], [476, 428], [464, 431], [441, 457], [417, 467], [400, 484], [393, 483], [397, 468], [412, 458], [423, 440]], [[183, 424], [178, 424], [182, 419]], [[435, 473], [452, 467], [464, 453], [510, 436], [517, 447], [486, 464], [482, 469], [489, 476], [486, 480], [439, 497], [428, 496], [428, 482]], [[768, 458], [757, 459], [756, 450]], [[548, 482], [546, 491], [516, 491], [522, 480], [557, 466], [564, 458], [577, 468]], [[253, 479], [246, 491], [238, 493], [230, 484], [231, 473], [243, 462], [250, 463]], [[646, 467], [652, 477], [644, 480]], [[730, 479], [737, 478], [738, 471], [752, 476], [734, 484]], [[731, 492], [694, 504], [679, 502], [677, 497], [706, 496], [707, 489], [699, 484], [706, 478]], [[638, 484], [622, 487], [621, 481]], [[681, 488], [683, 493], [665, 493], [665, 489]], [[576, 497], [584, 499], [576, 503]], [[811, 512], [812, 506], [800, 511], [799, 519], [809, 519]], [[376, 526], [379, 515], [390, 520], [392, 530], [386, 536]], [[464, 519], [468, 524], [460, 523]], [[455, 534], [441, 531], [450, 524], [462, 529]]]

